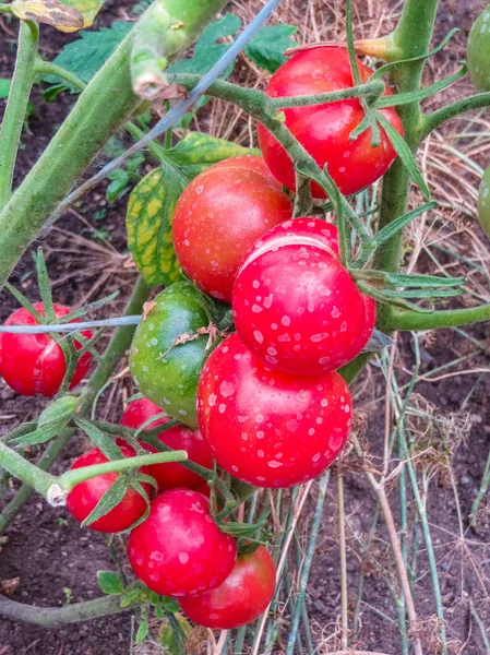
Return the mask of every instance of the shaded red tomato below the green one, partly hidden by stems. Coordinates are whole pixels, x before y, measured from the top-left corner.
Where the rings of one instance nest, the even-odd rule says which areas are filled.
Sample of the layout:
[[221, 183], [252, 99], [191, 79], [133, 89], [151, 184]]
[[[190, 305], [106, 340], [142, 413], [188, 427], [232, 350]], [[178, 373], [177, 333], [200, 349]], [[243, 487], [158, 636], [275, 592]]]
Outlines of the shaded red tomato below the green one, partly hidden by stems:
[[[163, 409], [155, 405], [155, 403], [152, 403], [152, 401], [139, 398], [128, 405], [122, 414], [120, 424], [128, 428], [138, 429], [146, 420], [152, 418], [152, 416], [162, 414], [162, 412]], [[155, 428], [168, 420], [169, 418], [162, 417], [148, 425], [145, 429]], [[186, 426], [175, 426], [158, 434], [157, 439], [172, 450], [187, 451], [189, 460], [195, 464], [201, 464], [201, 466], [205, 466], [206, 468], [213, 468], [213, 455], [210, 446], [204, 441], [199, 430], [191, 430]], [[141, 445], [151, 453], [159, 452], [156, 448], [153, 448], [147, 443], [142, 442]], [[200, 475], [192, 473], [192, 471], [189, 471], [189, 468], [186, 468], [181, 464], [177, 464], [177, 462], [169, 462], [168, 464], [151, 464], [150, 466], [143, 466], [141, 472], [155, 478], [155, 481], [158, 485], [158, 491], [174, 489], [176, 487], [196, 489], [203, 484], [203, 478]]]

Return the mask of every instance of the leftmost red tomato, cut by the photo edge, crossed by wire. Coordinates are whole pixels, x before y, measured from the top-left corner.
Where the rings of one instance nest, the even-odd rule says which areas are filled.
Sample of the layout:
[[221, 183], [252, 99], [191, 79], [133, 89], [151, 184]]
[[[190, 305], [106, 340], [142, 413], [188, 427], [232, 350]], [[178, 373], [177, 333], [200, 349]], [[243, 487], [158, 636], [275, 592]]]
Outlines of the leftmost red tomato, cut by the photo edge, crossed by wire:
[[[45, 315], [43, 302], [35, 302], [41, 317]], [[57, 319], [65, 317], [72, 310], [63, 305], [55, 305]], [[77, 323], [76, 319], [70, 321]], [[38, 325], [36, 319], [24, 308], [17, 309], [5, 321], [5, 325]], [[82, 331], [83, 336], [91, 338], [89, 330]], [[80, 350], [82, 344], [74, 342]], [[91, 366], [92, 355], [85, 353], [73, 373], [70, 390], [84, 378]], [[49, 334], [11, 334], [0, 335], [0, 374], [7, 384], [21, 395], [36, 394], [52, 397], [58, 393], [63, 381], [67, 364], [61, 347]]]

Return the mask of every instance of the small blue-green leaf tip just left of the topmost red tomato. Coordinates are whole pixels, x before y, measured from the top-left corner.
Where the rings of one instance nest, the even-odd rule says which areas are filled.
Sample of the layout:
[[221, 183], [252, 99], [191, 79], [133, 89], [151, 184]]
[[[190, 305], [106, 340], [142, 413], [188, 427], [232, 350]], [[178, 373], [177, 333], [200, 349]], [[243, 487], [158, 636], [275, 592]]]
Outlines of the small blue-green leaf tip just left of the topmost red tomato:
[[267, 25], [262, 27], [244, 47], [244, 53], [256, 66], [275, 73], [276, 70], [286, 61], [283, 55], [288, 48], [295, 45], [291, 36], [298, 32], [295, 25]]

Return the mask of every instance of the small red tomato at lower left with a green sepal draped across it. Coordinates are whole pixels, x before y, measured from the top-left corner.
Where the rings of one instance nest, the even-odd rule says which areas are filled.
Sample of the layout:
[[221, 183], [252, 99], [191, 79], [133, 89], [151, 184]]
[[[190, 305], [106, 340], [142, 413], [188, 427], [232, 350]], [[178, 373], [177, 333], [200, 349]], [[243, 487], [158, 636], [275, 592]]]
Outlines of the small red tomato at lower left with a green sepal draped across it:
[[[119, 448], [124, 457], [134, 456], [132, 448], [121, 444]], [[106, 462], [108, 462], [107, 457], [98, 448], [94, 448], [75, 460], [71, 468], [83, 468], [84, 466], [105, 464]], [[118, 477], [119, 473], [104, 473], [84, 483], [79, 483], [68, 495], [67, 508], [77, 521], [84, 521], [95, 510], [100, 498], [110, 489]], [[143, 488], [148, 496], [152, 495], [153, 489], [150, 485], [143, 484]], [[119, 504], [87, 527], [104, 533], [122, 532], [143, 516], [146, 512], [146, 504], [143, 496], [130, 487]]]

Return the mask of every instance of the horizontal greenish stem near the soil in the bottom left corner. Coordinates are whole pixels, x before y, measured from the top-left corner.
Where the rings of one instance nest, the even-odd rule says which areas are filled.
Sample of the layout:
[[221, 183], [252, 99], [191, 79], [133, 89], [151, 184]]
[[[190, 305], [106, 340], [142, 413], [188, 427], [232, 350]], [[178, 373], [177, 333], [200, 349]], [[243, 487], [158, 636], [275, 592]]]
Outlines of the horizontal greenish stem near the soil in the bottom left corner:
[[121, 596], [113, 595], [64, 607], [37, 607], [0, 595], [0, 615], [12, 621], [24, 621], [43, 628], [62, 628], [68, 623], [89, 621], [132, 609], [131, 606], [121, 608]]

